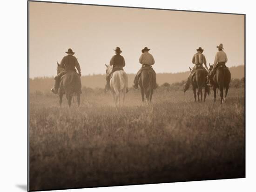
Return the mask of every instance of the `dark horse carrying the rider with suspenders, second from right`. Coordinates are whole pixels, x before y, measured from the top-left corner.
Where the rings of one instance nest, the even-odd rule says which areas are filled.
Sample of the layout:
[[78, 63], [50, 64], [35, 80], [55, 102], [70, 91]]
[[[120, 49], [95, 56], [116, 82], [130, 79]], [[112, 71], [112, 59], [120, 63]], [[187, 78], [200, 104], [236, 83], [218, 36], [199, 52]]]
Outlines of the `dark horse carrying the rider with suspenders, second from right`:
[[[189, 67], [189, 69], [191, 70], [191, 68]], [[202, 89], [204, 88], [204, 97], [203, 97], [203, 102], [205, 102], [206, 99], [206, 94], [208, 93], [209, 95], [209, 87], [206, 84], [207, 82], [207, 71], [204, 69], [197, 69], [195, 71], [195, 74], [192, 77], [192, 89], [194, 92], [194, 98], [195, 98], [195, 102], [196, 102], [196, 89], [197, 90], [197, 99], [198, 102], [200, 102], [200, 96], [201, 96], [201, 102], [202, 102]]]

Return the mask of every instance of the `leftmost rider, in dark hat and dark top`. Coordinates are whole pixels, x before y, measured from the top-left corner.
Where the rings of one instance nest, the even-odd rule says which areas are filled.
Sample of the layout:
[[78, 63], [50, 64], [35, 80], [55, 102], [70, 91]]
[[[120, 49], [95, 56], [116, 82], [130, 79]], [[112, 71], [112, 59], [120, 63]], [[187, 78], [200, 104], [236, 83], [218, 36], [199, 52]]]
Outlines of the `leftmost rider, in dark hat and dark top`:
[[74, 57], [74, 52], [72, 51], [72, 49], [69, 48], [66, 53], [67, 55], [64, 58], [62, 58], [61, 64], [60, 64], [60, 67], [63, 68], [64, 71], [59, 73], [56, 77], [54, 77], [55, 84], [54, 84], [54, 87], [51, 89], [51, 91], [54, 94], [58, 93], [58, 89], [60, 86], [60, 79], [63, 75], [67, 73], [67, 71], [76, 72], [75, 70], [76, 68], [78, 70], [78, 75], [81, 77], [81, 68], [77, 61], [77, 58]]

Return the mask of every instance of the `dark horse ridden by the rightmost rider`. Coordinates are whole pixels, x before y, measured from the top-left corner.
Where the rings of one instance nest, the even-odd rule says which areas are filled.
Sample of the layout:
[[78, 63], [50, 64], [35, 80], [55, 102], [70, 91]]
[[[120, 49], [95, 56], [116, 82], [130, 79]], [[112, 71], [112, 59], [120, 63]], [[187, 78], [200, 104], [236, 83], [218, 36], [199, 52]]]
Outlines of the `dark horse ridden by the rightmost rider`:
[[[213, 65], [210, 65], [209, 72], [213, 69]], [[213, 76], [212, 89], [214, 91], [214, 102], [216, 102], [216, 90], [220, 90], [221, 103], [226, 101], [226, 97], [229, 91], [229, 83], [231, 81], [231, 73], [226, 65], [222, 64], [218, 66], [215, 75]], [[223, 98], [223, 89], [225, 89], [225, 97]]]

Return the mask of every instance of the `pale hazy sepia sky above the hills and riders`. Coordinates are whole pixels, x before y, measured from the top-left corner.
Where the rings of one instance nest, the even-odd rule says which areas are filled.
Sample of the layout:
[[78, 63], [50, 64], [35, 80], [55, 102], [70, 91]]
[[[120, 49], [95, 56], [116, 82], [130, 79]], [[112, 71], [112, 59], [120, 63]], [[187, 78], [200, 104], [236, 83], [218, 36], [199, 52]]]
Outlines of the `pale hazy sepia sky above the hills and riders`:
[[220, 43], [227, 66], [244, 64], [243, 15], [29, 2], [29, 18], [30, 77], [56, 75], [56, 62], [68, 48], [82, 75], [105, 74], [116, 46], [127, 73], [140, 69], [145, 46], [157, 73], [189, 70], [199, 46], [207, 63], [213, 63]]

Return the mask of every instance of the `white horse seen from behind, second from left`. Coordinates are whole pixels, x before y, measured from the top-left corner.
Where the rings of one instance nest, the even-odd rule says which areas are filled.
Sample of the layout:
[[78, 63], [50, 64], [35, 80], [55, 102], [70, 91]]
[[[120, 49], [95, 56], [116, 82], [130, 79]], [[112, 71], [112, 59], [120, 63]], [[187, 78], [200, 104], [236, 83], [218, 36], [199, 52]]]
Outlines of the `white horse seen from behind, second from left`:
[[[107, 67], [107, 76], [112, 72], [113, 66], [105, 64]], [[110, 91], [112, 93], [115, 106], [120, 107], [120, 100], [122, 96], [122, 105], [124, 103], [126, 88], [128, 85], [128, 76], [123, 70], [117, 70], [112, 74], [110, 78]]]

